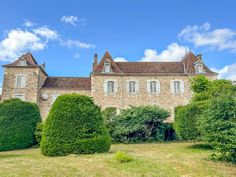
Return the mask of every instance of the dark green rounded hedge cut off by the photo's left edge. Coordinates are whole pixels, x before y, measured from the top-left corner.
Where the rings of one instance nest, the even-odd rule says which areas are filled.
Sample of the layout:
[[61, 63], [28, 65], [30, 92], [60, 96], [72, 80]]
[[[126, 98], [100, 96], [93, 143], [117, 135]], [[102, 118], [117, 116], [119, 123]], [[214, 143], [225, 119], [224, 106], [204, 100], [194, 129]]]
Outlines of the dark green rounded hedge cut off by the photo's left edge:
[[32, 146], [36, 124], [40, 121], [39, 109], [34, 103], [19, 99], [0, 103], [0, 151]]

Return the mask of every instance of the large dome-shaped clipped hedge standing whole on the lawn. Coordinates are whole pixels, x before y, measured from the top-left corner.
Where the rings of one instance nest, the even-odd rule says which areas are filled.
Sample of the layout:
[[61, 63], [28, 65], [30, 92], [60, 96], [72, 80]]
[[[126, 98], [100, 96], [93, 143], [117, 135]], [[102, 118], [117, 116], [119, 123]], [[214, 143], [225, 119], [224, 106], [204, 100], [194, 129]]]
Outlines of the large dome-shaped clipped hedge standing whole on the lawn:
[[90, 97], [65, 94], [56, 99], [43, 127], [44, 155], [107, 152], [110, 145], [101, 110]]

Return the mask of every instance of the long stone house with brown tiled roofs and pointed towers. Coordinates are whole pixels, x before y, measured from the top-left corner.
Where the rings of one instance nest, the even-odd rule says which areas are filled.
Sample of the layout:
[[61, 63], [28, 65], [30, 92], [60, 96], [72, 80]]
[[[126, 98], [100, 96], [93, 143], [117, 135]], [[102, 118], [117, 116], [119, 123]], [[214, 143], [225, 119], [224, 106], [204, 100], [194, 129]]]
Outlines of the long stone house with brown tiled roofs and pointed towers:
[[186, 53], [180, 62], [115, 62], [108, 51], [98, 63], [94, 55], [89, 77], [50, 77], [31, 53], [4, 67], [2, 100], [20, 98], [39, 105], [45, 119], [55, 99], [65, 93], [93, 97], [103, 109], [159, 105], [172, 113], [189, 102], [190, 79], [205, 75], [216, 79], [201, 55]]

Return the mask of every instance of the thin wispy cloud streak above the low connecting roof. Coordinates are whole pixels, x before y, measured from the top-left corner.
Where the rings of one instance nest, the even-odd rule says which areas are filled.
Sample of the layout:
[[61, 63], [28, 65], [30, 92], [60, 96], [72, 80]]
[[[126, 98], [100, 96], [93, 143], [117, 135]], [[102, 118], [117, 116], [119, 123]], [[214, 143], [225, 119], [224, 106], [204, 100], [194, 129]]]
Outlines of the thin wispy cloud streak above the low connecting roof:
[[66, 46], [68, 48], [82, 48], [82, 49], [90, 49], [95, 48], [96, 46], [94, 44], [84, 43], [80, 42], [78, 40], [61, 40], [61, 45]]

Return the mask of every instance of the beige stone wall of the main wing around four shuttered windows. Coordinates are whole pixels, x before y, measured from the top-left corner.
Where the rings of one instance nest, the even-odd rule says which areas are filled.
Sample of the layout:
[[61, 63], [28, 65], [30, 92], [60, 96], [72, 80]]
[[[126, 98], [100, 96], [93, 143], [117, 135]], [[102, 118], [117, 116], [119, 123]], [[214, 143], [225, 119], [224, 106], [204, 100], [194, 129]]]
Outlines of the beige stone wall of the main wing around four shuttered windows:
[[[174, 119], [174, 108], [185, 105], [189, 102], [192, 92], [190, 90], [190, 76], [104, 76], [94, 75], [91, 77], [91, 96], [95, 103], [103, 109], [106, 107], [117, 107], [119, 109], [139, 105], [158, 105], [171, 112], [170, 121]], [[118, 89], [115, 94], [104, 93], [104, 82], [107, 80], [116, 81]], [[160, 93], [149, 94], [147, 92], [147, 80], [160, 81]], [[139, 93], [130, 94], [126, 91], [127, 80], [139, 82]], [[171, 93], [171, 80], [184, 82], [184, 93]]]

